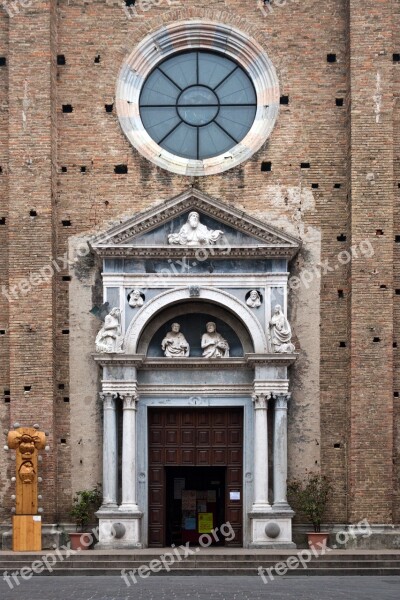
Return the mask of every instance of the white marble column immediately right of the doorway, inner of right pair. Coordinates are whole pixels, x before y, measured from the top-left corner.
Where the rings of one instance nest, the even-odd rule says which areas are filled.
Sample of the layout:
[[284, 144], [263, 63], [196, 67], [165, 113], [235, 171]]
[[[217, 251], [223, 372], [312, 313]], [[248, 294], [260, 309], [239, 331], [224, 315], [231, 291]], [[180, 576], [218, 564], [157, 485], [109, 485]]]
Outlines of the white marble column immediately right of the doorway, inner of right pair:
[[253, 511], [271, 510], [268, 502], [268, 394], [254, 394], [254, 504]]

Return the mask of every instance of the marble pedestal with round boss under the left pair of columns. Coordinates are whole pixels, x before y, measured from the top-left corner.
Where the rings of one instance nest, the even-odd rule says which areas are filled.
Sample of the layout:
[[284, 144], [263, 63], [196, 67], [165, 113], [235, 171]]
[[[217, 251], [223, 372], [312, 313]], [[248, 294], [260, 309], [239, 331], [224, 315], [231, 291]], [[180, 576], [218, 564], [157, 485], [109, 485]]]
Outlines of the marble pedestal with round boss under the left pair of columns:
[[98, 550], [117, 548], [143, 548], [140, 541], [140, 524], [142, 513], [123, 511], [121, 508], [111, 511], [99, 510]]

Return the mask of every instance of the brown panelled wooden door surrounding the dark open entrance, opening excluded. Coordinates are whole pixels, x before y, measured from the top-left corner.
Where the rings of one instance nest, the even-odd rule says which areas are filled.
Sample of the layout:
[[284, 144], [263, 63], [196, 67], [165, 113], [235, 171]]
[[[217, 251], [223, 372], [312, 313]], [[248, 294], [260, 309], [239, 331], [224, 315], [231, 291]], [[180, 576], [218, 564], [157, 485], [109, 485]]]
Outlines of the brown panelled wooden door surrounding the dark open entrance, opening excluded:
[[[164, 546], [165, 467], [225, 467], [225, 522], [242, 545], [243, 410], [241, 408], [149, 408], [149, 545]], [[232, 500], [230, 492], [239, 492]]]

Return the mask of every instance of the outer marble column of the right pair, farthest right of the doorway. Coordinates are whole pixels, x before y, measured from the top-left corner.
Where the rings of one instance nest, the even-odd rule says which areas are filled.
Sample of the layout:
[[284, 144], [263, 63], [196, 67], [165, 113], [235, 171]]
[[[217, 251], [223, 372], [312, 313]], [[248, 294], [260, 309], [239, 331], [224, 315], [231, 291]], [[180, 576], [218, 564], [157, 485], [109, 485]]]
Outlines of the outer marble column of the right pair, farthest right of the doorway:
[[274, 415], [274, 508], [289, 509], [287, 503], [287, 405], [290, 394], [275, 394]]

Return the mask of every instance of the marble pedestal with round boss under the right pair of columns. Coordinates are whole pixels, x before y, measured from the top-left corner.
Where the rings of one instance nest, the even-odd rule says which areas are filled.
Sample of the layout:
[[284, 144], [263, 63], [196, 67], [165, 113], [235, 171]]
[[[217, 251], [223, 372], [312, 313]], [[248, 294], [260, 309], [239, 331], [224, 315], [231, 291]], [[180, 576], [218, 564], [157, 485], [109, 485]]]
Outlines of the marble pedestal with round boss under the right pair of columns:
[[250, 548], [286, 549], [296, 548], [292, 540], [293, 511], [270, 509], [264, 513], [252, 511], [249, 513], [251, 522]]

